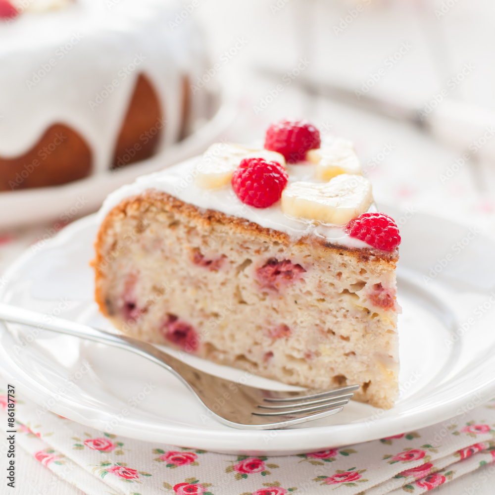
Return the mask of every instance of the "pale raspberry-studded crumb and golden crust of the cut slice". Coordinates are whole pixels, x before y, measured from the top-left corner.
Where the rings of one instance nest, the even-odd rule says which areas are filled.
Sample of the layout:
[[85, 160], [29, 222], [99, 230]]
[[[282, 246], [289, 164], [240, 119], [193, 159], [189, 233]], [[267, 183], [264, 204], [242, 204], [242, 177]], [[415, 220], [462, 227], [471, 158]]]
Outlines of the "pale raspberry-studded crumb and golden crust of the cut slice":
[[96, 300], [131, 337], [394, 405], [397, 252], [292, 240], [149, 189], [102, 222]]

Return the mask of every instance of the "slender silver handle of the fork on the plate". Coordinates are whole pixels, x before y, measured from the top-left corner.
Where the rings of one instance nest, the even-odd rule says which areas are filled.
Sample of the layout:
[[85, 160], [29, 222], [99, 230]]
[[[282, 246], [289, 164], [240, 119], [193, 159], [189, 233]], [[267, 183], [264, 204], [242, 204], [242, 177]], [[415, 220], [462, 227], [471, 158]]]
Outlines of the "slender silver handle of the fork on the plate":
[[[93, 342], [98, 342], [99, 344], [107, 344], [129, 350], [160, 365], [186, 384], [187, 377], [196, 371], [192, 366], [189, 366], [185, 362], [161, 351], [147, 342], [133, 339], [126, 335], [111, 334], [104, 330], [99, 330], [82, 323], [64, 320], [63, 318], [48, 317], [46, 314], [20, 308], [4, 302], [0, 302], [0, 320], [52, 330], [53, 332], [79, 337], [80, 339], [88, 339]], [[189, 384], [187, 385], [189, 386]]]

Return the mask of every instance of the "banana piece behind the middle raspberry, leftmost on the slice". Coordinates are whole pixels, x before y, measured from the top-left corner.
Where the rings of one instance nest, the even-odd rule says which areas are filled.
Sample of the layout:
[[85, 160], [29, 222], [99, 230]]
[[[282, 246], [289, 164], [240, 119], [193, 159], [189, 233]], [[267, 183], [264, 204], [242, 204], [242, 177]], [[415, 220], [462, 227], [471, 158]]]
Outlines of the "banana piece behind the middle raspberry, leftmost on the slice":
[[243, 158], [264, 158], [285, 166], [284, 155], [276, 151], [215, 143], [204, 152], [196, 167], [196, 185], [201, 189], [216, 189], [230, 184]]

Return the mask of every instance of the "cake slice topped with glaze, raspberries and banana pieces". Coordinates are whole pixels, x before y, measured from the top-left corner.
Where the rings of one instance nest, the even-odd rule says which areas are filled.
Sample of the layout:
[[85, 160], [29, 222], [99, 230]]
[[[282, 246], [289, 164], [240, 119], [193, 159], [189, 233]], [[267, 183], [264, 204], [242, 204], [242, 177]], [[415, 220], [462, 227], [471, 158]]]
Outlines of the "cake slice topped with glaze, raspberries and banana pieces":
[[[307, 158], [307, 159], [306, 159]], [[398, 392], [394, 221], [347, 141], [282, 121], [104, 203], [96, 300], [121, 331], [293, 385]]]

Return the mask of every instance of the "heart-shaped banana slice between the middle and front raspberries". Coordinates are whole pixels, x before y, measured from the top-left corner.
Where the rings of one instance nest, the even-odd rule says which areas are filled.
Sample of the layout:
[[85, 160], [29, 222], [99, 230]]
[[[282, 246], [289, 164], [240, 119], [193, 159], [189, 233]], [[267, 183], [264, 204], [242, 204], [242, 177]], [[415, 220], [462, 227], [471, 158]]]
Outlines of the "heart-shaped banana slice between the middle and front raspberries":
[[325, 184], [293, 182], [282, 193], [287, 215], [335, 225], [365, 213], [372, 202], [371, 182], [362, 175], [340, 174]]

